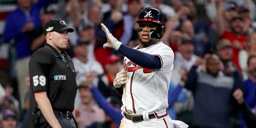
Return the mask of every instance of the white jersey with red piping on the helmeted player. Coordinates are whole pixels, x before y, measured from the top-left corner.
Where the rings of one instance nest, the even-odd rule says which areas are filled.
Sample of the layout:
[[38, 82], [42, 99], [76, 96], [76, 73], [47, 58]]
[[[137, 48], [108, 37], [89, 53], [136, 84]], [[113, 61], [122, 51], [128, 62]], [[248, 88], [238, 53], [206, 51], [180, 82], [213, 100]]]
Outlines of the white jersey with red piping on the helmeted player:
[[[135, 49], [138, 49], [138, 46]], [[128, 74], [126, 85], [123, 87], [121, 110], [134, 114], [164, 110], [168, 108], [168, 89], [174, 53], [169, 46], [162, 42], [138, 50], [159, 56], [162, 67], [150, 70], [124, 58], [124, 68], [127, 67]]]

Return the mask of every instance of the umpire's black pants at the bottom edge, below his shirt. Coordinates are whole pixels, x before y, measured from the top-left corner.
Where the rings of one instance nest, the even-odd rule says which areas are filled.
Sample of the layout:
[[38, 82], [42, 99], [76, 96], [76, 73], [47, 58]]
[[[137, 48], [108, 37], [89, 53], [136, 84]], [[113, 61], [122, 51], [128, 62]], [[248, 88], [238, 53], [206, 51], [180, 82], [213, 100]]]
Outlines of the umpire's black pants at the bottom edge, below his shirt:
[[[67, 119], [62, 117], [56, 117], [62, 128], [77, 128], [76, 120], [74, 117]], [[34, 114], [32, 121], [30, 122], [30, 128], [51, 128], [50, 124], [46, 121], [43, 114]]]

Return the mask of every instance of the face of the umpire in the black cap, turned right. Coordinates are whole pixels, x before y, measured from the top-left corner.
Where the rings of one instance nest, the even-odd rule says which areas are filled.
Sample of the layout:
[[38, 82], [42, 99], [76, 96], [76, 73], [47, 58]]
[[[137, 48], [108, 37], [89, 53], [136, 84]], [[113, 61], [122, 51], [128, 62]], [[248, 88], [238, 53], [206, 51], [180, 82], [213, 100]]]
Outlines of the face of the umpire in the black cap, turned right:
[[68, 30], [51, 32], [52, 46], [59, 52], [67, 48]]

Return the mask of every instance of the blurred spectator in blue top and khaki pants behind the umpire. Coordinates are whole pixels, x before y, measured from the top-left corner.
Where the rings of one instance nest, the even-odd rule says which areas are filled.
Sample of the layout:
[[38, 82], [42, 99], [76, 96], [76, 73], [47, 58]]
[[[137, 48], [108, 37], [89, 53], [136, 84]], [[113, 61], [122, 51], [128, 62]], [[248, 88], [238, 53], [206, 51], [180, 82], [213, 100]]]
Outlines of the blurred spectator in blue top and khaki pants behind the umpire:
[[24, 80], [26, 76], [29, 76], [28, 63], [31, 55], [28, 32], [42, 25], [39, 18], [40, 9], [50, 0], [39, 0], [35, 3], [32, 3], [32, 0], [16, 1], [18, 8], [6, 16], [3, 39], [4, 42], [14, 39], [19, 98], [21, 107], [24, 108], [25, 95], [28, 90]]

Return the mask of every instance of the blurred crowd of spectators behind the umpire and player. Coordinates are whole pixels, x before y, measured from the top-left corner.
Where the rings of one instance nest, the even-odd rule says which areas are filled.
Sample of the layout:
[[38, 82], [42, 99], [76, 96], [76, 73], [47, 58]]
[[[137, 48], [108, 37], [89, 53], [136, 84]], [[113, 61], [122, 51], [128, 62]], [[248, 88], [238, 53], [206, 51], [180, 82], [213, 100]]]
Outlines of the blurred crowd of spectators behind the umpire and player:
[[[79, 128], [118, 128], [122, 97], [113, 87], [124, 56], [111, 48], [100, 23], [124, 45], [138, 45], [138, 14], [159, 8], [161, 39], [175, 53], [168, 113], [191, 128], [255, 128], [256, 0], [0, 0], [0, 128], [28, 128], [30, 56], [44, 46], [43, 27], [61, 18], [66, 51], [77, 72]], [[241, 97], [238, 97], [238, 92]], [[249, 120], [249, 122], [248, 122]]]

